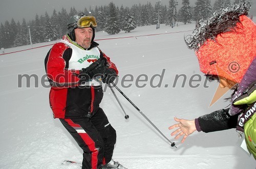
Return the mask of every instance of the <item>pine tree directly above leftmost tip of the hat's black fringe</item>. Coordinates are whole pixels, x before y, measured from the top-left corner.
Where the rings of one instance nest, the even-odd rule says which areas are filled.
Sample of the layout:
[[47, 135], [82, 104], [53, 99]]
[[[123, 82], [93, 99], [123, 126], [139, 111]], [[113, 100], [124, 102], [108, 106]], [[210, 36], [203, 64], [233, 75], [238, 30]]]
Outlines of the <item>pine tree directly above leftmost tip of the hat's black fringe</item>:
[[180, 17], [179, 20], [186, 23], [191, 23], [192, 14], [191, 14], [191, 7], [189, 6], [189, 0], [182, 0], [182, 7], [180, 8]]

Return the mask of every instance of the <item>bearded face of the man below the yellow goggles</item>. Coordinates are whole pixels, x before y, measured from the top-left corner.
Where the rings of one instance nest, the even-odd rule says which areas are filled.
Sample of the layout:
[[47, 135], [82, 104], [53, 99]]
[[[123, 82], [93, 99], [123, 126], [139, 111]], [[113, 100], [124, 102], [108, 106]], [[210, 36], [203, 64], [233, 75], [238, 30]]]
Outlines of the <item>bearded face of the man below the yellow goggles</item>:
[[91, 46], [91, 41], [93, 37], [92, 27], [86, 28], [77, 28], [75, 29], [76, 43], [82, 46], [85, 49], [88, 49]]

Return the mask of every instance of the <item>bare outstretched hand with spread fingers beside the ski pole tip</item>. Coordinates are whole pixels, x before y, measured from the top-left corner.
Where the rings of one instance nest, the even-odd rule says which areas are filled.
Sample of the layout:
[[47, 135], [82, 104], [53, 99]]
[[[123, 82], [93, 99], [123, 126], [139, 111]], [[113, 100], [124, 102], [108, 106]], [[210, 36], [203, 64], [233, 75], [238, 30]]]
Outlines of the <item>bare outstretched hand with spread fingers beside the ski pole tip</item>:
[[174, 120], [178, 122], [178, 124], [170, 126], [168, 129], [172, 130], [174, 128], [176, 129], [174, 132], [172, 132], [170, 135], [175, 135], [175, 139], [178, 139], [180, 136], [184, 135], [181, 143], [185, 142], [185, 139], [187, 138], [188, 135], [192, 134], [194, 131], [196, 131], [196, 125], [195, 125], [195, 120], [186, 120], [186, 119], [178, 119], [174, 117]]

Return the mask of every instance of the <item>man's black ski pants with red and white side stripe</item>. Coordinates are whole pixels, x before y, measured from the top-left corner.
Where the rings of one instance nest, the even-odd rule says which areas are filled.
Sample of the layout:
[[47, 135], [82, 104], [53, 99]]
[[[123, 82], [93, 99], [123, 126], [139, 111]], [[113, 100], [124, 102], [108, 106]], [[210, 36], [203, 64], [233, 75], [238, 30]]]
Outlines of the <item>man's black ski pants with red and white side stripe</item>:
[[112, 159], [116, 130], [99, 108], [91, 118], [60, 119], [83, 150], [82, 169], [100, 168]]

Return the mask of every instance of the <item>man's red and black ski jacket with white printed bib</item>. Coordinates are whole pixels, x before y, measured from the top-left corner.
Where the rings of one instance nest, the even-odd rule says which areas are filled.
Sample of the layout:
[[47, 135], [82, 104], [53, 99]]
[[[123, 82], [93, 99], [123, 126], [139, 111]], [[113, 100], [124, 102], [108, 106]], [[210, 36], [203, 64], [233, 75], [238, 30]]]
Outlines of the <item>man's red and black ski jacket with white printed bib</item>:
[[[77, 74], [81, 68], [88, 67], [102, 57], [106, 58], [108, 68], [114, 69], [118, 74], [115, 64], [98, 45], [93, 41], [89, 49], [83, 49], [65, 35], [47, 53], [45, 68], [51, 84], [50, 106], [54, 118], [90, 118], [97, 112], [103, 97], [101, 84], [81, 86]], [[96, 54], [92, 54], [93, 52]], [[86, 67], [82, 67], [85, 65]]]

